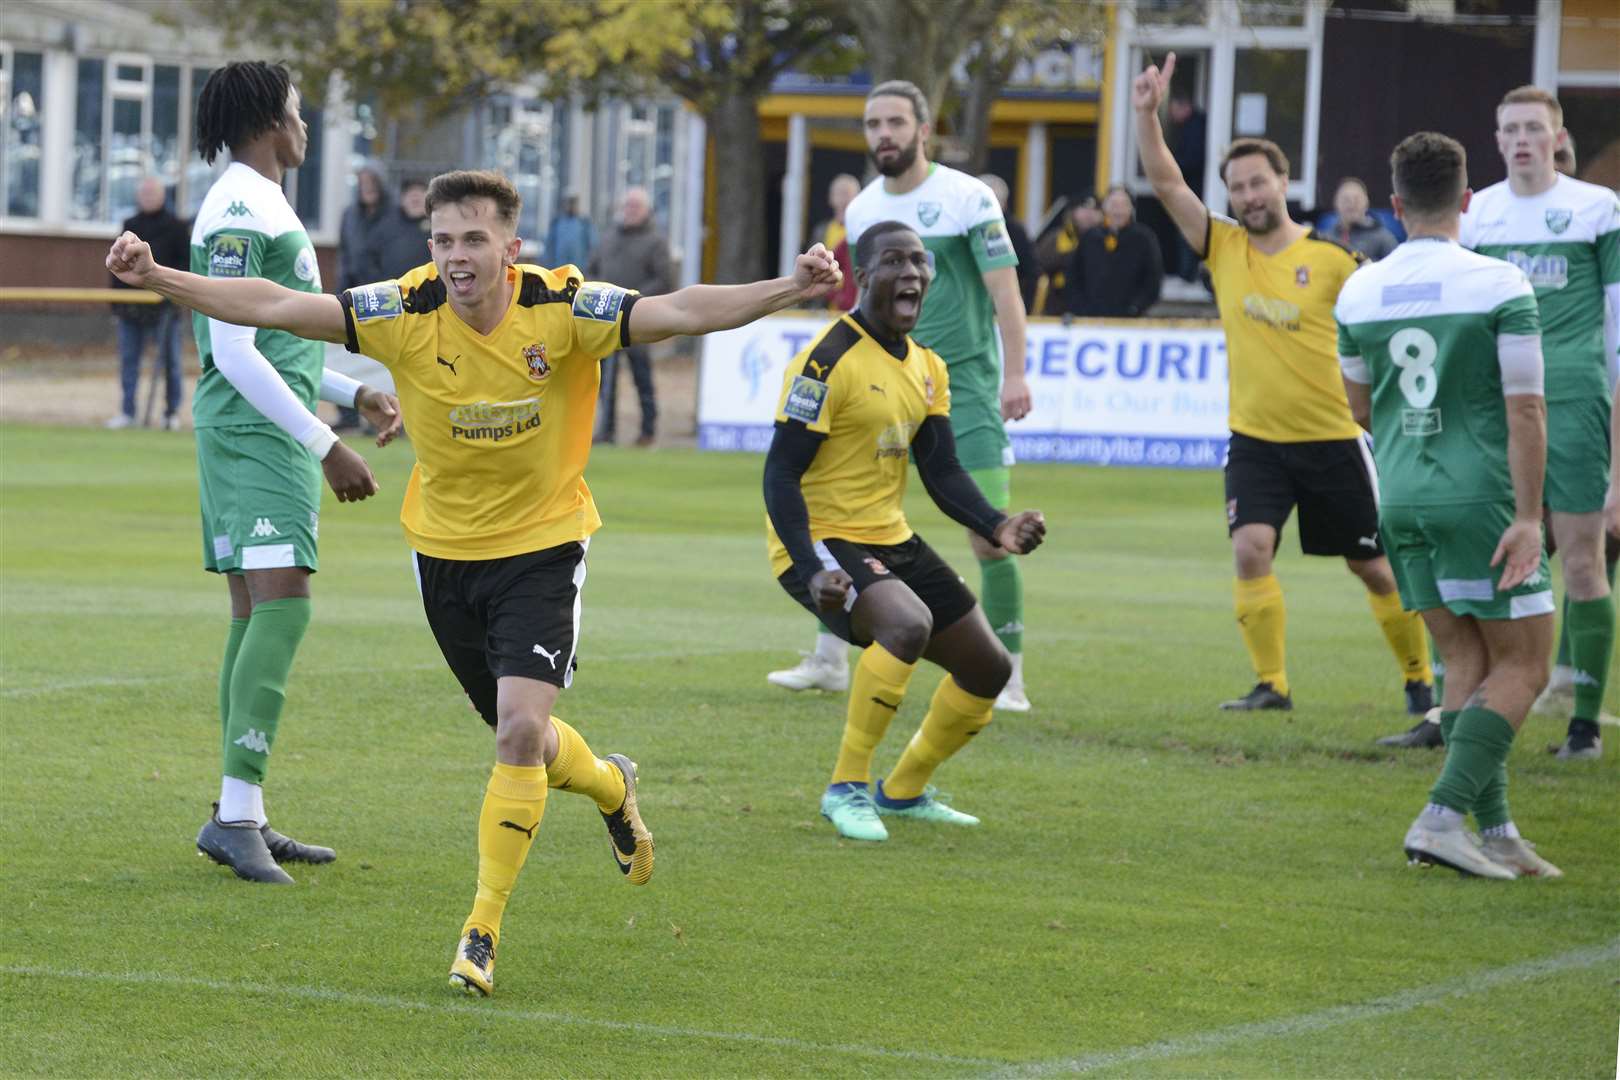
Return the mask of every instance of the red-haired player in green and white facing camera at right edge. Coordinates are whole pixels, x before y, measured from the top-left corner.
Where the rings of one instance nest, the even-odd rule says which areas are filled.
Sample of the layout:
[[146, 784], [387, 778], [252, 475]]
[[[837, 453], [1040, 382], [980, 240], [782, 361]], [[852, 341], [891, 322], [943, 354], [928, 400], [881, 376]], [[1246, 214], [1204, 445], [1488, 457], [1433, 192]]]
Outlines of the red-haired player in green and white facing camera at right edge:
[[1550, 750], [1591, 759], [1602, 755], [1597, 722], [1615, 651], [1615, 563], [1604, 552], [1602, 510], [1620, 337], [1620, 196], [1558, 173], [1554, 154], [1567, 138], [1557, 97], [1534, 86], [1508, 91], [1497, 105], [1508, 175], [1469, 202], [1461, 241], [1515, 264], [1536, 287], [1547, 363], [1547, 525], [1565, 589], [1547, 690], [1573, 706], [1563, 743]]

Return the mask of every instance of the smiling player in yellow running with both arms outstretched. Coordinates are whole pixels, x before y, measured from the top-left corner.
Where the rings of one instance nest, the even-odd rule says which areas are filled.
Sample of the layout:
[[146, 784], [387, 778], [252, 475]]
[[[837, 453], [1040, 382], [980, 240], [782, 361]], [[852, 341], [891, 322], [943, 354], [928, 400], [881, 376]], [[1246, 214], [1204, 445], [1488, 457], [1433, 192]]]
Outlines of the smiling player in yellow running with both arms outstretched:
[[833, 256], [815, 246], [799, 256], [792, 277], [643, 300], [585, 282], [572, 266], [517, 266], [520, 206], [499, 173], [434, 176], [433, 264], [342, 298], [167, 270], [133, 233], [107, 256], [107, 269], [125, 282], [198, 313], [343, 342], [394, 374], [416, 449], [400, 520], [428, 625], [496, 733], [478, 818], [478, 894], [450, 968], [450, 984], [470, 994], [494, 986], [501, 916], [548, 789], [596, 803], [630, 884], [653, 873], [635, 764], [624, 755], [598, 758], [551, 716], [572, 682], [585, 549], [601, 525], [583, 476], [598, 361], [625, 345], [735, 327], [816, 301], [842, 280]]

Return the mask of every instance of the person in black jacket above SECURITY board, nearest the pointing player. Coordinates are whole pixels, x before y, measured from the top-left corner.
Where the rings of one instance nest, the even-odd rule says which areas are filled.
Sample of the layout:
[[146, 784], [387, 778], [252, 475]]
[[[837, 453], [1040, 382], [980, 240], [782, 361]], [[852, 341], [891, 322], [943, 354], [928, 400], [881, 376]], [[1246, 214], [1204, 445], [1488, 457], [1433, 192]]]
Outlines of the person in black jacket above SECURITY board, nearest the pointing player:
[[1124, 188], [1103, 198], [1103, 223], [1087, 230], [1069, 259], [1069, 311], [1094, 319], [1134, 319], [1158, 303], [1165, 257], [1158, 236], [1136, 222]]

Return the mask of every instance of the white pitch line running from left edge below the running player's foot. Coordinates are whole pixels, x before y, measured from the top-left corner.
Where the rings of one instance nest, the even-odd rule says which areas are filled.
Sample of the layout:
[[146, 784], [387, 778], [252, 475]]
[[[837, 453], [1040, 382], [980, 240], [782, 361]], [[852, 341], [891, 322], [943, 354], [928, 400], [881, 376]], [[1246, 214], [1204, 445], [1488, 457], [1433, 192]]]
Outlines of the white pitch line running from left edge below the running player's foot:
[[0, 967], [0, 973], [23, 978], [75, 978], [99, 983], [126, 983], [136, 986], [173, 986], [180, 989], [207, 989], [228, 994], [262, 994], [266, 997], [296, 997], [303, 1001], [321, 1001], [339, 1006], [366, 1006], [371, 1009], [397, 1009], [402, 1012], [476, 1015], [486, 1020], [518, 1020], [522, 1023], [562, 1023], [583, 1028], [604, 1028], [609, 1031], [629, 1031], [632, 1035], [708, 1040], [716, 1043], [748, 1043], [753, 1046], [776, 1046], [781, 1049], [802, 1051], [807, 1054], [850, 1054], [857, 1057], [883, 1057], [888, 1061], [915, 1061], [935, 1065], [978, 1067], [1000, 1065], [1003, 1062], [990, 1057], [953, 1057], [951, 1054], [932, 1054], [917, 1049], [891, 1049], [886, 1046], [863, 1046], [859, 1043], [813, 1043], [810, 1040], [786, 1038], [781, 1035], [757, 1035], [753, 1031], [710, 1031], [705, 1028], [685, 1028], [667, 1023], [637, 1023], [635, 1020], [601, 1020], [596, 1017], [577, 1017], [565, 1012], [548, 1012], [543, 1009], [501, 1009], [491, 1004], [470, 1001], [413, 1001], [410, 997], [392, 997], [387, 994], [356, 994], [342, 989], [326, 989], [321, 986], [280, 986], [275, 983], [249, 983], [237, 980], [194, 978], [188, 975], [168, 975], [164, 972], [84, 972], [75, 968], [47, 967]]

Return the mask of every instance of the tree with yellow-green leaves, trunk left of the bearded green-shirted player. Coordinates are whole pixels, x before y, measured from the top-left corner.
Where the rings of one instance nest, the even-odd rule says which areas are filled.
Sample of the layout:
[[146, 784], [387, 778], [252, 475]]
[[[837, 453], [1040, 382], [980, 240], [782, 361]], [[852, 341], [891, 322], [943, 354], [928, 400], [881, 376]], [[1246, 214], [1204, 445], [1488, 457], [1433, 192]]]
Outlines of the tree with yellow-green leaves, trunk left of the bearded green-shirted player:
[[760, 99], [784, 70], [844, 57], [852, 32], [839, 0], [199, 0], [194, 11], [303, 71], [340, 73], [397, 117], [442, 117], [533, 81], [559, 99], [677, 94], [721, 149], [721, 282], [765, 270]]

